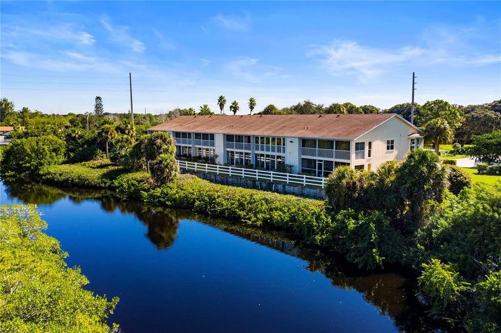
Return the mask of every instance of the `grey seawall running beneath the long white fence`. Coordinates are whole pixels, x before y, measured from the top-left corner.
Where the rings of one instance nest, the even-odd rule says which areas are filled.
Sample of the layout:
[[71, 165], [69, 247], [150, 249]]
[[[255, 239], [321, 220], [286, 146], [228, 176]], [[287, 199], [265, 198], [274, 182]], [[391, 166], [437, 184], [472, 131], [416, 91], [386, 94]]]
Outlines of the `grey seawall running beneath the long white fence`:
[[198, 178], [205, 179], [211, 183], [230, 185], [243, 188], [253, 188], [257, 190], [277, 192], [282, 194], [293, 194], [301, 197], [312, 198], [312, 199], [324, 199], [324, 189], [316, 187], [307, 187], [299, 185], [287, 185], [287, 184], [277, 184], [267, 181], [255, 180], [255, 179], [244, 179], [238, 177], [228, 177], [224, 175], [215, 175], [210, 173], [201, 173], [194, 171], [181, 170], [181, 173], [191, 174], [197, 176]]

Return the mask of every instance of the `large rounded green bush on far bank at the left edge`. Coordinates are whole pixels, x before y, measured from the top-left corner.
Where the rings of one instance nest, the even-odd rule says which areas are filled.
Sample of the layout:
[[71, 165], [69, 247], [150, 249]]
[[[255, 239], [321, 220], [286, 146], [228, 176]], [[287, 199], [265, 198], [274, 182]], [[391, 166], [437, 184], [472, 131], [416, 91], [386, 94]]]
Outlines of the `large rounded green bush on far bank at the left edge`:
[[47, 166], [63, 162], [65, 142], [53, 135], [14, 139], [4, 151], [2, 177], [37, 175]]

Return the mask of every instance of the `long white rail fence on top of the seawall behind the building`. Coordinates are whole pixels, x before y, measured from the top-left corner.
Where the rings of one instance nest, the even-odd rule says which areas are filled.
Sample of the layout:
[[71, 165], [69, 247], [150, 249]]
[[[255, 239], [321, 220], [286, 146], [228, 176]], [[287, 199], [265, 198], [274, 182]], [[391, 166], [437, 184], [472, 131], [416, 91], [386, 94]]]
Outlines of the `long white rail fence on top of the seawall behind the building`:
[[285, 183], [285, 184], [303, 185], [303, 186], [317, 186], [324, 188], [326, 182], [326, 178], [324, 177], [296, 175], [293, 173], [237, 168], [233, 166], [217, 165], [217, 164], [214, 165], [214, 164], [197, 163], [197, 162], [189, 162], [182, 160], [177, 160], [177, 163], [179, 164], [179, 168], [181, 170], [212, 173], [228, 177], [241, 177], [247, 179], [264, 180], [275, 183]]

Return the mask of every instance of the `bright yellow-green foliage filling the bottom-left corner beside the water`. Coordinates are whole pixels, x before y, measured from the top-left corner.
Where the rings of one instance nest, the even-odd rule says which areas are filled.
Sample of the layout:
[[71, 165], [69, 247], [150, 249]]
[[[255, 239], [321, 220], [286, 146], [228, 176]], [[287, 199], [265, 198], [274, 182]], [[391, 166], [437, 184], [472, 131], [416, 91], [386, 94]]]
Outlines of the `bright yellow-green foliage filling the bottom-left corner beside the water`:
[[88, 279], [70, 268], [59, 242], [34, 205], [0, 206], [0, 330], [4, 332], [111, 332], [118, 302], [85, 290]]

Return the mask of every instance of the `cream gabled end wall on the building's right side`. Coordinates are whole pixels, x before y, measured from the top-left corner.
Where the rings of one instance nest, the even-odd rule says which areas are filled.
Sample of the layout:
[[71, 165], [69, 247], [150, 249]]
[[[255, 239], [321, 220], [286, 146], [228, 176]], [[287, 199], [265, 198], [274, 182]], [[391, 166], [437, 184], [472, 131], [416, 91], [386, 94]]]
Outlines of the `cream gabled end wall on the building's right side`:
[[[367, 170], [367, 165], [371, 164], [371, 170], [374, 171], [383, 162], [402, 160], [409, 151], [410, 139], [407, 136], [412, 133], [417, 133], [417, 130], [402, 120], [397, 117], [389, 119], [357, 140], [352, 141], [351, 166], [364, 164], [364, 169]], [[387, 140], [394, 140], [394, 150], [386, 150]], [[367, 157], [369, 141], [372, 142], [370, 158]], [[423, 148], [423, 141], [423, 139], [420, 139], [420, 148]], [[357, 142], [365, 142], [365, 159], [363, 160], [355, 160], [355, 143]]]

